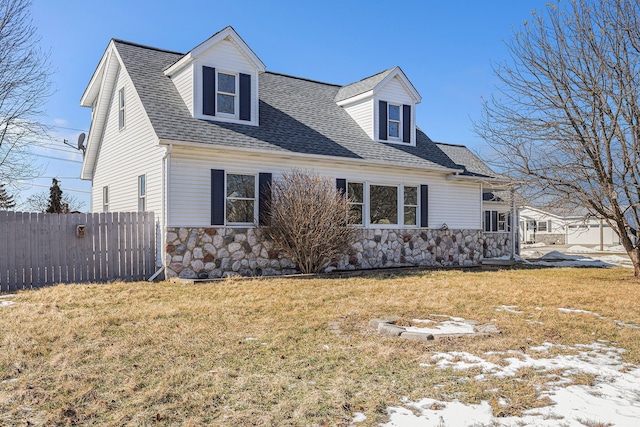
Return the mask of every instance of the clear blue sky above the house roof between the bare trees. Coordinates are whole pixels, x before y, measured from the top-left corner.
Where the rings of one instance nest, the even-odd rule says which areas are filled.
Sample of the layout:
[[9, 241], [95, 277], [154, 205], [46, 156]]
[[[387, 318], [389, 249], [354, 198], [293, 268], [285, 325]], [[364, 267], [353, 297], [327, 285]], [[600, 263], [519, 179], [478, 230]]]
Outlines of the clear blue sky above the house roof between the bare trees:
[[[399, 65], [418, 92], [417, 123], [433, 140], [490, 151], [472, 131], [482, 97], [494, 91], [491, 63], [504, 40], [544, 0], [232, 1], [33, 0], [34, 25], [51, 53], [55, 94], [43, 121], [55, 142], [38, 149], [43, 178], [21, 199], [48, 191], [51, 177], [89, 209], [82, 156], [65, 146], [87, 131], [91, 111], [80, 97], [111, 38], [187, 52], [231, 25], [267, 70], [347, 84]], [[64, 158], [55, 160], [48, 157]], [[78, 190], [78, 191], [72, 191]]]

